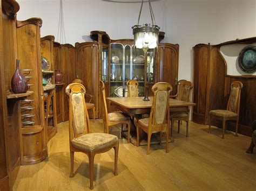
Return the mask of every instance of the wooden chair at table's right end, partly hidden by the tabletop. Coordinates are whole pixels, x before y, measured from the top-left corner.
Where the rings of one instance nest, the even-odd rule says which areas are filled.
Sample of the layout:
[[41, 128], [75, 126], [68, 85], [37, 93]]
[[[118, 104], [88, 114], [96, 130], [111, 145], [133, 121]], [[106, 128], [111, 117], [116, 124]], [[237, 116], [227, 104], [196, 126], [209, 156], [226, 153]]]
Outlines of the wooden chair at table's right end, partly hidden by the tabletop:
[[[179, 80], [178, 81], [178, 91], [177, 94], [174, 95], [177, 100], [190, 102], [190, 95], [193, 86], [190, 81], [187, 80]], [[173, 96], [171, 96], [173, 97]], [[170, 113], [171, 119], [171, 136], [173, 131], [173, 123], [174, 121], [178, 121], [178, 133], [180, 132], [180, 121], [186, 121], [186, 137], [188, 137], [188, 124], [190, 120], [190, 108], [172, 108]]]

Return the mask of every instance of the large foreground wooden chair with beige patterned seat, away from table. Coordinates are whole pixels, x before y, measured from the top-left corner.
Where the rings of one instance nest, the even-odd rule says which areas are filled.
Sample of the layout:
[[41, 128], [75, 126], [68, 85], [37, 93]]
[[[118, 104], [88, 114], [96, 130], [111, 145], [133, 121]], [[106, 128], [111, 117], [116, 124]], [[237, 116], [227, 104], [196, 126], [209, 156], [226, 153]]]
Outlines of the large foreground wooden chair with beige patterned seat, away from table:
[[114, 148], [114, 175], [117, 175], [118, 138], [106, 133], [91, 133], [89, 115], [84, 99], [85, 88], [82, 84], [69, 84], [66, 87], [66, 94], [69, 96], [70, 177], [74, 176], [74, 152], [87, 154], [90, 168], [90, 189], [93, 189], [93, 165], [96, 154]]

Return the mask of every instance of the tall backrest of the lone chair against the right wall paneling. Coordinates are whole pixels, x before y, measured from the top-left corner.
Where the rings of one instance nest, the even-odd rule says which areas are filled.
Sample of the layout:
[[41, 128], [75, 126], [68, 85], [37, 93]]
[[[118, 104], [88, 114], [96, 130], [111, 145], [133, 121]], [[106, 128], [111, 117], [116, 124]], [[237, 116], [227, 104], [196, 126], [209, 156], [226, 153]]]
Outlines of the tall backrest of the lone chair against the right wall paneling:
[[236, 114], [239, 114], [241, 89], [241, 82], [234, 81], [231, 83], [230, 98], [227, 102], [227, 110], [235, 112]]

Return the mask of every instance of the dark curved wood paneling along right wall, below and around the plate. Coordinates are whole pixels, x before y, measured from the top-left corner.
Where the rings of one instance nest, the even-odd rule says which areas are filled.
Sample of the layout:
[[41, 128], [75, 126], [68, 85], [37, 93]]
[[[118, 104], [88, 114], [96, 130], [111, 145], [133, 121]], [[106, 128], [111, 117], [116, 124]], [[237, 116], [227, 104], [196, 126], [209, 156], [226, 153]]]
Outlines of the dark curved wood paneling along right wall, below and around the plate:
[[[193, 47], [193, 108], [192, 120], [199, 124], [207, 124], [208, 112], [215, 109], [226, 109], [230, 86], [233, 81], [243, 84], [241, 90], [241, 103], [239, 114], [238, 133], [251, 136], [250, 128], [256, 118], [256, 105], [254, 94], [256, 87], [255, 76], [228, 76], [226, 61], [220, 54], [220, 47], [232, 44], [252, 44], [256, 38], [228, 41], [218, 45], [198, 44]], [[212, 121], [212, 125], [221, 126], [220, 121]], [[228, 130], [235, 130], [235, 123], [227, 124]]]

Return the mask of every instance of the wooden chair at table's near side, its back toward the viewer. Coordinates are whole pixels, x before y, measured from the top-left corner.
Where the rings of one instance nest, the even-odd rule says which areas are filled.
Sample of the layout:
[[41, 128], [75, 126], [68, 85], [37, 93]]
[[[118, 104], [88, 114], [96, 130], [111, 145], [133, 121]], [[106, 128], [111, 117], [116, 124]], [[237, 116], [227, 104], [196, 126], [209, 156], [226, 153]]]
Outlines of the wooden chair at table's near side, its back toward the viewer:
[[172, 86], [169, 83], [159, 82], [152, 87], [154, 93], [150, 117], [139, 119], [137, 129], [137, 146], [139, 146], [139, 129], [147, 133], [147, 154], [150, 151], [150, 140], [152, 133], [166, 133], [166, 153], [169, 152], [169, 123], [170, 123], [170, 107], [169, 97]]

